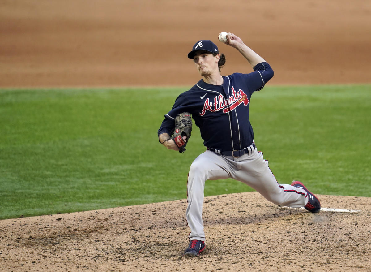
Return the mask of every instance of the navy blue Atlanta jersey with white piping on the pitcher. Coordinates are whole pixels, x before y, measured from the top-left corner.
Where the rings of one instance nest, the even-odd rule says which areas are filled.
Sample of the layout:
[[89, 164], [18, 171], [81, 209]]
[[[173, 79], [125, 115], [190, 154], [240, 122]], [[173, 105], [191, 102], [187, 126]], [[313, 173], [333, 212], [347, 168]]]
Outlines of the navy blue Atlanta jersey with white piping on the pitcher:
[[250, 98], [272, 77], [272, 68], [267, 62], [262, 62], [249, 74], [223, 76], [223, 85], [198, 81], [175, 100], [173, 108], [165, 115], [158, 135], [171, 135], [177, 114], [189, 112], [200, 128], [206, 147], [232, 151], [250, 146], [254, 139], [249, 120]]

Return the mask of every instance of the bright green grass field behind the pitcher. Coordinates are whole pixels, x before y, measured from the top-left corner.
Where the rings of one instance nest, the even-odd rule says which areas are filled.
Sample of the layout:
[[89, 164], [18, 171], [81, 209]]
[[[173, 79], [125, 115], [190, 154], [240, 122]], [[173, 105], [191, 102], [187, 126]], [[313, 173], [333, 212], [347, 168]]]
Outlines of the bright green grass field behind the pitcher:
[[[188, 88], [0, 90], [0, 219], [184, 199], [205, 150], [157, 139]], [[371, 86], [265, 87], [253, 94], [255, 142], [277, 180], [317, 194], [371, 197]], [[207, 181], [205, 195], [252, 191]]]

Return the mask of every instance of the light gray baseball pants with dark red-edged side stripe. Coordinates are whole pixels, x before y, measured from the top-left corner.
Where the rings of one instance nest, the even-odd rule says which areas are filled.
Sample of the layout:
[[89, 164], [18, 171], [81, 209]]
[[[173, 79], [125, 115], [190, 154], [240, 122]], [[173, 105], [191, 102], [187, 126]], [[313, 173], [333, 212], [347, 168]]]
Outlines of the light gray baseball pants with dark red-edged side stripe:
[[306, 192], [289, 184], [279, 184], [257, 149], [234, 158], [207, 150], [191, 164], [187, 182], [187, 224], [191, 229], [190, 240], [205, 241], [202, 205], [206, 180], [233, 178], [241, 181], [268, 201], [287, 207], [300, 208], [308, 203]]

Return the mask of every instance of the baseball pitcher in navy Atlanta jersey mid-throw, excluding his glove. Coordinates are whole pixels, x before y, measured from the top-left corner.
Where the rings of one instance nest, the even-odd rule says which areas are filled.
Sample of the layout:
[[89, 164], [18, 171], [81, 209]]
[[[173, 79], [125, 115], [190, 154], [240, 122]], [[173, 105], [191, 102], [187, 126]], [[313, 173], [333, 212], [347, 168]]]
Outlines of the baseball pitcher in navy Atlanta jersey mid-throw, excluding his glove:
[[[202, 205], [208, 179], [233, 178], [249, 185], [274, 204], [305, 207], [312, 213], [321, 210], [318, 198], [301, 182], [279, 184], [254, 143], [249, 121], [250, 99], [273, 77], [272, 68], [233, 33], [227, 34], [226, 44], [236, 48], [254, 71], [222, 76], [220, 68], [225, 64], [224, 54], [220, 54], [210, 40], [196, 42], [188, 58], [193, 59], [202, 79], [178, 96], [158, 130], [160, 143], [168, 149], [179, 150], [171, 139], [174, 120], [178, 114], [188, 112], [199, 127], [206, 146], [206, 151], [193, 161], [188, 173], [186, 218], [191, 231], [184, 255], [198, 256], [205, 249]], [[186, 136], [183, 139], [187, 141]]]

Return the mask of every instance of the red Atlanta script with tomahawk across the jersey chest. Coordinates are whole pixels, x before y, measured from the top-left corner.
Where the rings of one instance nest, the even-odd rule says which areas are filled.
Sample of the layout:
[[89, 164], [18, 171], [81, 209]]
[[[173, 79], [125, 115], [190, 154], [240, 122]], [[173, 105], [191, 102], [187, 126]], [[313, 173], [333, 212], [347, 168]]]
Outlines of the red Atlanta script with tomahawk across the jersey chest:
[[212, 103], [209, 101], [209, 98], [206, 98], [204, 108], [199, 114], [200, 116], [204, 116], [207, 110], [211, 112], [223, 110], [223, 113], [228, 113], [236, 109], [236, 107], [240, 106], [242, 103], [245, 106], [249, 104], [247, 94], [241, 89], [236, 92], [234, 87], [232, 87], [232, 96], [228, 99], [224, 99], [223, 95], [219, 94], [214, 98], [214, 103]]

